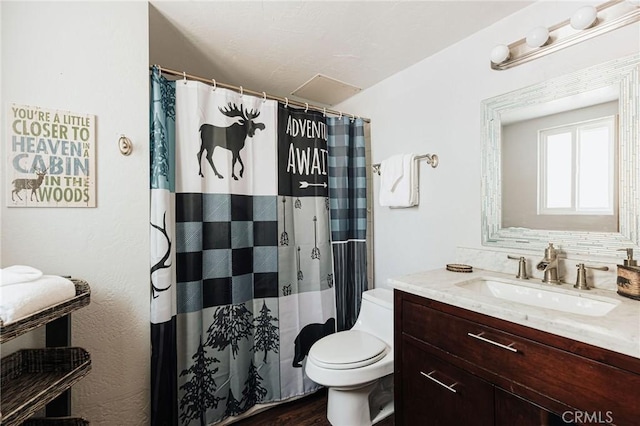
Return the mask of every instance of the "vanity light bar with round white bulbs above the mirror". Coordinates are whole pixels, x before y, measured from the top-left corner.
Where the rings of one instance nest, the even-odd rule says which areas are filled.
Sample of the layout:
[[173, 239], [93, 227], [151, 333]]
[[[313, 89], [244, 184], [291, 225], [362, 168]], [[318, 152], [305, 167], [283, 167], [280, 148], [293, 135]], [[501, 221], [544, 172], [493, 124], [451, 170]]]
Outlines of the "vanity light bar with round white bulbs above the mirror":
[[595, 7], [583, 6], [570, 19], [548, 28], [536, 27], [523, 39], [494, 47], [490, 54], [491, 68], [506, 70], [638, 21], [638, 0], [610, 0]]

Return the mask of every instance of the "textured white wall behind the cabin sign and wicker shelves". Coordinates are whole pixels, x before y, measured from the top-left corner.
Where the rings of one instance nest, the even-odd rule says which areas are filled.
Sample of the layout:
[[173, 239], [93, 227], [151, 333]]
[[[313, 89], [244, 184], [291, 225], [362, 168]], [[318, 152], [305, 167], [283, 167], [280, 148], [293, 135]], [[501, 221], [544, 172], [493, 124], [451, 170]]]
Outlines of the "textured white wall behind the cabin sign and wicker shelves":
[[[91, 285], [91, 304], [72, 315], [72, 343], [91, 353], [93, 369], [74, 386], [72, 409], [92, 424], [148, 423], [147, 9], [141, 1], [0, 4], [0, 134], [12, 102], [97, 116], [97, 207], [7, 208], [5, 182], [0, 261]], [[120, 134], [134, 143], [130, 157], [118, 151]]]

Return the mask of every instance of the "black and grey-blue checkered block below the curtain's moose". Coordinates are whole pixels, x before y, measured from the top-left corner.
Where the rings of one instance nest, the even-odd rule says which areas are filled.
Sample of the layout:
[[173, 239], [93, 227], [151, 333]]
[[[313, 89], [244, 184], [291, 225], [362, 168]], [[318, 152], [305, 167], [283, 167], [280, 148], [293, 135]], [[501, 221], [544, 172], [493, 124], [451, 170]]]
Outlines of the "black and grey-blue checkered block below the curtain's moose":
[[176, 194], [178, 312], [278, 297], [275, 196]]

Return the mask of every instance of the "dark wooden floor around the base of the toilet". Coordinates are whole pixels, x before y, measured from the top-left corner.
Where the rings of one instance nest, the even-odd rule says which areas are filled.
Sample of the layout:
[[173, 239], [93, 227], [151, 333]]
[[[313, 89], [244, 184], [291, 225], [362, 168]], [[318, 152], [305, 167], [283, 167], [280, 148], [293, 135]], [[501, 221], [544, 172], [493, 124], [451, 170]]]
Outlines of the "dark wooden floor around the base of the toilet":
[[[393, 414], [376, 426], [393, 426]], [[278, 405], [234, 423], [234, 426], [330, 426], [327, 420], [327, 391]], [[357, 425], [354, 425], [357, 426]]]

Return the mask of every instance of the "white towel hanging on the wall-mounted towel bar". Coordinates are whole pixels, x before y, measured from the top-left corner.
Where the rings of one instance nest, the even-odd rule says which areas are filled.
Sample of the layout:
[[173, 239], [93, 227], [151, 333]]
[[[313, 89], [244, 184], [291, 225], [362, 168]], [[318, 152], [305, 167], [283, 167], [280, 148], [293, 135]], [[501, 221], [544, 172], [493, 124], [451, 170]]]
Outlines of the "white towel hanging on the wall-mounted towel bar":
[[[391, 157], [389, 159], [394, 159], [393, 164], [395, 164], [395, 157], [397, 156]], [[397, 177], [398, 175], [400, 175], [400, 177], [396, 179], [395, 184], [391, 189], [389, 189], [388, 186], [383, 185], [383, 183], [381, 182], [379, 196], [379, 202], [381, 206], [411, 207], [417, 205], [418, 179], [415, 158], [415, 154], [402, 155], [402, 173], [397, 172], [394, 166], [394, 168], [392, 169], [394, 177]], [[383, 161], [380, 164], [380, 173], [383, 177], [387, 173], [385, 170], [386, 165], [386, 161]]]

